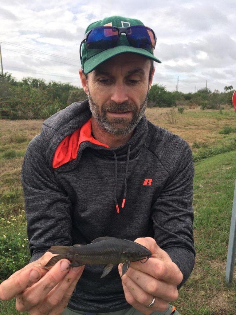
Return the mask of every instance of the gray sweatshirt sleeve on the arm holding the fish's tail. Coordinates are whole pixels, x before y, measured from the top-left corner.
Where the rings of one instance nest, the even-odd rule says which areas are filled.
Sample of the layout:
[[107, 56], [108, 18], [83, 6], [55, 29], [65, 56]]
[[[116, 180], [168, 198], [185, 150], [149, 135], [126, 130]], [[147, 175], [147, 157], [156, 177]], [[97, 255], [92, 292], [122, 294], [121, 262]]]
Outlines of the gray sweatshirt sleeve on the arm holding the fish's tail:
[[52, 245], [71, 245], [70, 198], [48, 166], [40, 135], [31, 140], [21, 171], [31, 261]]

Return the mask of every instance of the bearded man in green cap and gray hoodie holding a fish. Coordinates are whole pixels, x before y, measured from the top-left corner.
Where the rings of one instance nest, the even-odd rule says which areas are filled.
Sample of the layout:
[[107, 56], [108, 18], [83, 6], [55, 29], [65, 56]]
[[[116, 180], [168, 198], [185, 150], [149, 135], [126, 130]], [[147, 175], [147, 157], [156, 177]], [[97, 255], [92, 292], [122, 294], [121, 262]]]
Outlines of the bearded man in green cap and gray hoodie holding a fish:
[[[50, 117], [28, 146], [22, 184], [32, 258], [1, 284], [0, 298], [16, 296], [30, 315], [177, 315], [169, 301], [194, 266], [194, 170], [188, 144], [144, 116], [160, 62], [155, 34], [119, 16], [85, 33], [80, 77], [89, 101]], [[68, 268], [63, 259], [43, 267], [50, 246], [102, 236], [136, 240], [152, 257], [122, 278], [120, 265], [102, 279], [103, 266]]]

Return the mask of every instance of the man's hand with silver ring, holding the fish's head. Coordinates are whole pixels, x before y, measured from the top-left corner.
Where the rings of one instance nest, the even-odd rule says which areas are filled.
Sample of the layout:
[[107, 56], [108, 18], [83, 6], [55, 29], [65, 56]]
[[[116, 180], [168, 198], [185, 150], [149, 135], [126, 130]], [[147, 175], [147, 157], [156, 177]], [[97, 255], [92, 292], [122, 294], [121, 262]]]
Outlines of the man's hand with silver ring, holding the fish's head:
[[[152, 252], [152, 257], [144, 264], [140, 261], [132, 262], [126, 274], [122, 276], [126, 301], [146, 315], [154, 311], [164, 312], [169, 301], [178, 298], [177, 285], [181, 283], [183, 274], [153, 238], [137, 238], [135, 242], [147, 247]], [[118, 270], [121, 275], [121, 264]], [[147, 308], [154, 297], [154, 305]]]

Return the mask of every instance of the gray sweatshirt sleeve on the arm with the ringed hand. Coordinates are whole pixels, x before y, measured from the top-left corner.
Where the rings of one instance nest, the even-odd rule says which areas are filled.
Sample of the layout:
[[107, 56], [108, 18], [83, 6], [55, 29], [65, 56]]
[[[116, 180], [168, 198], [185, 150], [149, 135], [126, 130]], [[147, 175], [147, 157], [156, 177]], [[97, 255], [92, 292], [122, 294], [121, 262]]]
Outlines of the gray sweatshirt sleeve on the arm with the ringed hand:
[[155, 240], [183, 273], [180, 288], [190, 276], [195, 262], [193, 238], [194, 166], [190, 147], [171, 161], [169, 179], [152, 208]]

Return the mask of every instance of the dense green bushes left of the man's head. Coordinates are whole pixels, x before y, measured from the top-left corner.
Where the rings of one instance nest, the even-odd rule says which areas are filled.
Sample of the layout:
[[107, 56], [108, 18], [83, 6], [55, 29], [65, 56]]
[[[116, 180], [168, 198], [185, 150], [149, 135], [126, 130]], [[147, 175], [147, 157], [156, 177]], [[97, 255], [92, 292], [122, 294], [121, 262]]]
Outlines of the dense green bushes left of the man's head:
[[[74, 92], [74, 93], [72, 93]], [[0, 73], [0, 118], [44, 119], [69, 105], [68, 100], [87, 99], [83, 89], [70, 83], [49, 82], [27, 77], [17, 82]]]

